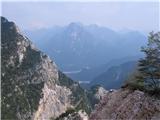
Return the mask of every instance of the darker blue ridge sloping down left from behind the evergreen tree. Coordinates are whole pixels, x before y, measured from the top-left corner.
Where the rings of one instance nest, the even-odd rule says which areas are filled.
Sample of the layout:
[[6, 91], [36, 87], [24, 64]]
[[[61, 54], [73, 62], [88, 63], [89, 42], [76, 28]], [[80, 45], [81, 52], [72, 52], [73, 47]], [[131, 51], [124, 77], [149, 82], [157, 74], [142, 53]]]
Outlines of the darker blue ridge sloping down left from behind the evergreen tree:
[[112, 66], [93, 79], [89, 85], [101, 85], [105, 89], [118, 89], [136, 70], [137, 64], [137, 61], [129, 61], [121, 65]]

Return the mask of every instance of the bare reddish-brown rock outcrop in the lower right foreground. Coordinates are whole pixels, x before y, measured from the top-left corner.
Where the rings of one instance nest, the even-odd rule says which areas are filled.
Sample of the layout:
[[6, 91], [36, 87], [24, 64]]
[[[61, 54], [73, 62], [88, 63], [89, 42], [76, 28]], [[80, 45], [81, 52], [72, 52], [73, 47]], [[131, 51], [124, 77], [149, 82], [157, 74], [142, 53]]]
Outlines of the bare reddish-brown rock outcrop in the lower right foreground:
[[160, 119], [160, 100], [138, 90], [108, 92], [90, 116], [90, 120], [104, 119], [158, 120]]

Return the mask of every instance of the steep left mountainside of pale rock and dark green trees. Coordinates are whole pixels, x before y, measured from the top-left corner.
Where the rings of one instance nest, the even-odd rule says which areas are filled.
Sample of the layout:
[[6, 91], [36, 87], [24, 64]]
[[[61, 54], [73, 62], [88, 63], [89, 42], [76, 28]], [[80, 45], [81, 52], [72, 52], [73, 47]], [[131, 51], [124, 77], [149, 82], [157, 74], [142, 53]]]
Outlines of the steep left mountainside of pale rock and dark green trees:
[[[13, 22], [1, 17], [1, 28], [2, 119], [56, 118], [79, 103], [75, 92], [85, 96], [79, 84], [70, 80], [69, 87], [67, 77], [60, 76], [55, 63], [36, 49]], [[81, 100], [83, 104], [87, 104], [85, 100]]]

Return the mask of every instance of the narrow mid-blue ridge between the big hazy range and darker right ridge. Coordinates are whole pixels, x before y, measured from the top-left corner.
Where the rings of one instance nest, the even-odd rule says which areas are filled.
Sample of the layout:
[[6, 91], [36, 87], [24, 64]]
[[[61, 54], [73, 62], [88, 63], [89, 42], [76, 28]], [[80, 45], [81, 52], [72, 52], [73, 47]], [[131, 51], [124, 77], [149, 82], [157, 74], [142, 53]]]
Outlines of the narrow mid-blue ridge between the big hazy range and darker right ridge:
[[120, 64], [126, 63], [128, 61], [138, 61], [141, 56], [128, 56], [120, 59], [113, 59], [106, 64], [96, 66], [93, 68], [84, 68], [81, 71], [75, 72], [66, 72], [66, 74], [74, 80], [80, 81], [81, 84], [89, 83], [93, 79], [95, 79], [100, 74], [106, 72], [109, 68], [113, 66], [119, 66]]

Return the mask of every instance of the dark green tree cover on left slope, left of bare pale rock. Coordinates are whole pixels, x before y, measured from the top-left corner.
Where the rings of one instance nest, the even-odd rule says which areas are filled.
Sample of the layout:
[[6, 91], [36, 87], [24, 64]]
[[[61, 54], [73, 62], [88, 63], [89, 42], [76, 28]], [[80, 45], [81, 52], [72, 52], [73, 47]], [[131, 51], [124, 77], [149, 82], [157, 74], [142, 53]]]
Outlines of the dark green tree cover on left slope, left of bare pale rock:
[[[1, 18], [1, 26], [1, 119], [31, 119], [38, 108], [44, 86], [42, 81], [31, 82], [32, 77], [37, 81], [42, 77], [34, 67], [41, 61], [40, 52], [31, 48], [30, 42], [17, 32], [13, 22]], [[26, 51], [20, 63], [18, 53], [23, 48]]]

